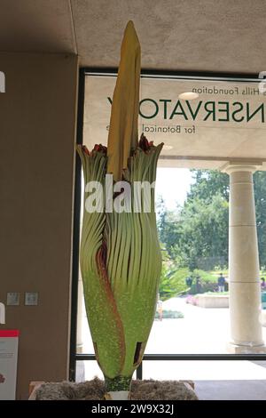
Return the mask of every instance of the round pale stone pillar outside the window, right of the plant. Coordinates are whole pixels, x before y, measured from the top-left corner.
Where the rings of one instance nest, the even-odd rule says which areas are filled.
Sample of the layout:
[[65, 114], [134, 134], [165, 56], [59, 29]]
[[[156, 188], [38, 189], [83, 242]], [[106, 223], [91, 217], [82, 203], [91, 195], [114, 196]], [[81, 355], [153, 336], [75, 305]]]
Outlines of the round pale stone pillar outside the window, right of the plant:
[[265, 352], [262, 340], [261, 283], [254, 207], [255, 165], [229, 164], [230, 351]]

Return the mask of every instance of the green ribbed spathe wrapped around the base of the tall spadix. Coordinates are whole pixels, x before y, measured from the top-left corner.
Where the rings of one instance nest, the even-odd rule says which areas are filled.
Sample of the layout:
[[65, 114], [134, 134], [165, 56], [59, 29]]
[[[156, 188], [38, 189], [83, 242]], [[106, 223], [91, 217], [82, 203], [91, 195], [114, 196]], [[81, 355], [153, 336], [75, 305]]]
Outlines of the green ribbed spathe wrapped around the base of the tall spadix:
[[[146, 151], [138, 148], [129, 158], [125, 181], [152, 183], [160, 149], [161, 145], [151, 145]], [[104, 152], [92, 151], [88, 155], [81, 147], [78, 151], [84, 183], [99, 181], [105, 191]], [[131, 193], [133, 203], [134, 187]], [[108, 379], [131, 378], [153, 325], [161, 258], [154, 190], [150, 189], [150, 193], [150, 213], [134, 213], [133, 207], [132, 213], [88, 213], [84, 208], [81, 269], [85, 305], [98, 363]], [[126, 389], [129, 386], [126, 388], [124, 382], [117, 386], [117, 390]]]

